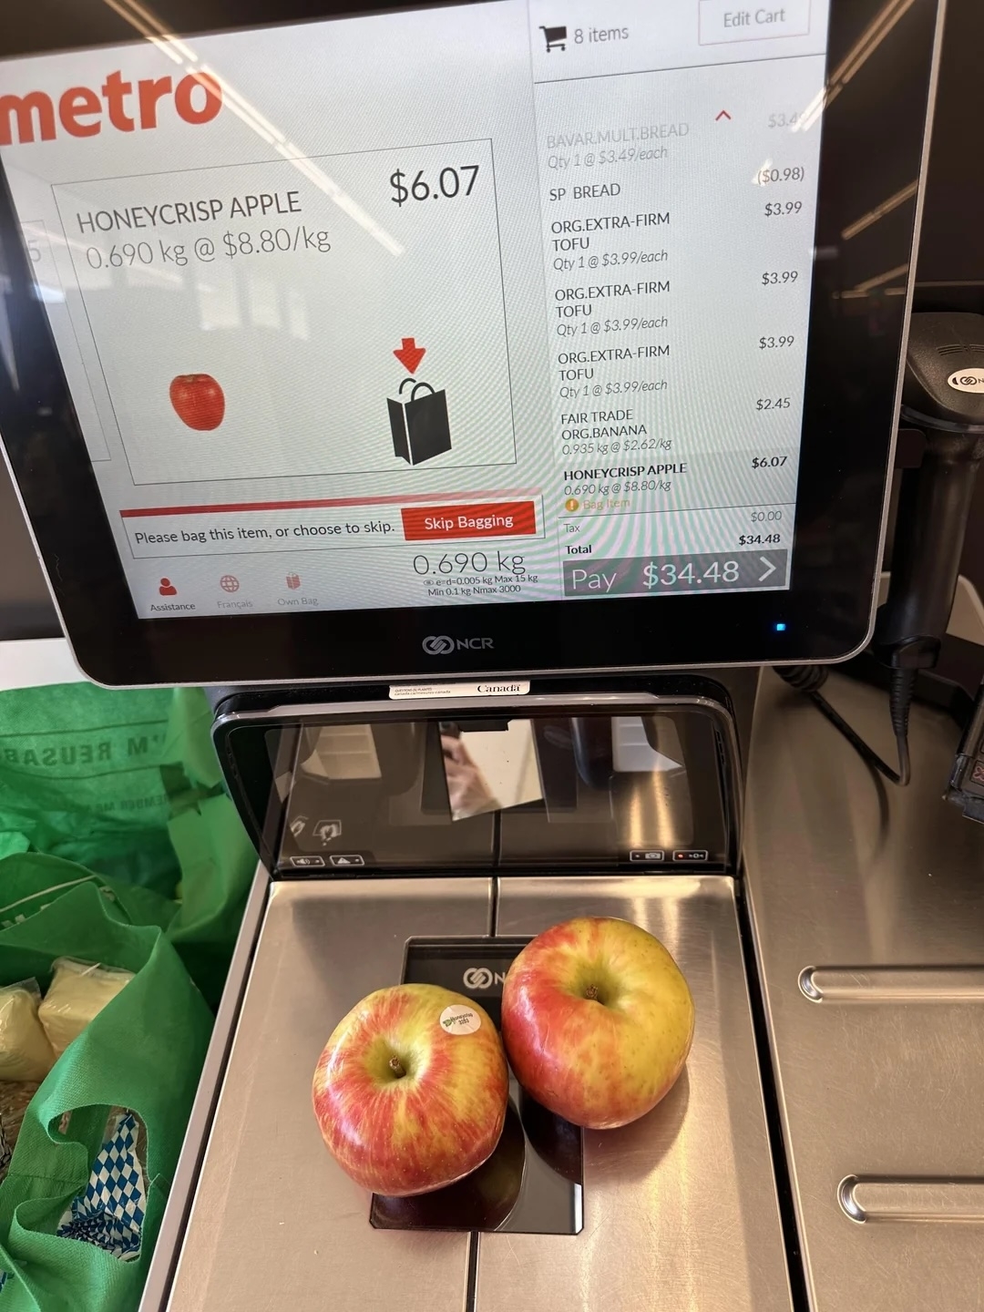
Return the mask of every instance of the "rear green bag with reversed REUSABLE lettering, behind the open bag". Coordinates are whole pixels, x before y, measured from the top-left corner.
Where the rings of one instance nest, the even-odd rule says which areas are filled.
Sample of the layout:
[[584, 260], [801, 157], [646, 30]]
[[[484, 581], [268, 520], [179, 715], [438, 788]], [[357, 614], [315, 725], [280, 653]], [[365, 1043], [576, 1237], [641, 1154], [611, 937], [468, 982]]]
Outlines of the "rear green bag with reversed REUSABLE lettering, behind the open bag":
[[215, 1006], [256, 851], [210, 729], [201, 689], [0, 693], [0, 857], [43, 851], [168, 899], [168, 937]]

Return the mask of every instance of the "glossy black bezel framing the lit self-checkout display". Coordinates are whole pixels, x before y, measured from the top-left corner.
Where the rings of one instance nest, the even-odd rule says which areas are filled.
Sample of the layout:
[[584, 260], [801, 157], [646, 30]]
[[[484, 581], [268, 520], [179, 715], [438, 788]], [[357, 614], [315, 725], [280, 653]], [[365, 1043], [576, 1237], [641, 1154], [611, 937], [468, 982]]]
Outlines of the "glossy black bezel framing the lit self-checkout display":
[[[105, 14], [96, 0], [85, 8]], [[266, 14], [260, 22], [285, 17], [273, 0], [252, 8]], [[398, 7], [367, 12], [386, 8]], [[318, 0], [302, 9], [332, 16]], [[198, 10], [201, 26], [185, 24], [182, 34], [235, 30], [224, 14], [215, 22], [210, 4]], [[846, 249], [841, 235], [921, 178], [938, 47], [937, 0], [914, 0], [851, 68], [851, 50], [880, 12], [880, 0], [830, 4], [833, 94], [821, 138], [792, 581], [782, 592], [138, 618], [0, 167], [0, 266], [17, 369], [16, 388], [0, 370], [0, 433], [81, 669], [110, 686], [331, 682], [836, 661], [859, 649], [880, 565], [921, 185], [878, 222], [876, 241]], [[251, 20], [237, 26], [256, 26]], [[81, 49], [67, 25], [54, 26], [49, 49]], [[41, 50], [5, 37], [0, 58], [14, 52]], [[886, 270], [904, 286], [879, 285]], [[842, 297], [869, 281], [862, 297]], [[426, 652], [432, 635], [451, 638], [453, 649]]]

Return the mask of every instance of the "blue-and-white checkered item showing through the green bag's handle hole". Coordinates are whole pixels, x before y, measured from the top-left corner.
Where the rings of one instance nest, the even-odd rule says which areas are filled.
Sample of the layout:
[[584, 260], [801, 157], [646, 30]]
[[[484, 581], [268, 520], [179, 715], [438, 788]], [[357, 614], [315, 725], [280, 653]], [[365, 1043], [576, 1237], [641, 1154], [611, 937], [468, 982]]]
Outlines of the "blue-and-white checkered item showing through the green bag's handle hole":
[[92, 1164], [85, 1193], [72, 1199], [56, 1231], [63, 1239], [94, 1244], [123, 1262], [140, 1254], [147, 1207], [143, 1170], [136, 1157], [136, 1134], [133, 1113], [117, 1119]]

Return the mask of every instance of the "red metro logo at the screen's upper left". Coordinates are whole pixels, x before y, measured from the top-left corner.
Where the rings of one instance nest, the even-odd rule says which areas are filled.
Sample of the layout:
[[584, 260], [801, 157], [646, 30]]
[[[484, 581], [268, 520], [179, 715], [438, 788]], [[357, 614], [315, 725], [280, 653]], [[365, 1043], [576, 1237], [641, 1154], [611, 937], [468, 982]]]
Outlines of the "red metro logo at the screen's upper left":
[[0, 94], [0, 146], [51, 142], [68, 136], [98, 136], [104, 126], [118, 133], [147, 131], [159, 115], [176, 114], [185, 123], [210, 123], [222, 109], [222, 87], [209, 73], [142, 77], [126, 81], [117, 71], [106, 76], [98, 92], [70, 87], [58, 104], [43, 91], [24, 96]]

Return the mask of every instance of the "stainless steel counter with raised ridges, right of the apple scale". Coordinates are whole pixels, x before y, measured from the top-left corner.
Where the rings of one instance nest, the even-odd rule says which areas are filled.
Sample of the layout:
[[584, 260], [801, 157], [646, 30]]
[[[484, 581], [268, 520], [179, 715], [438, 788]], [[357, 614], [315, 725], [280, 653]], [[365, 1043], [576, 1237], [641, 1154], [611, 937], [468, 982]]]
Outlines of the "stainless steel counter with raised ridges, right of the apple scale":
[[[884, 694], [828, 687], [891, 760]], [[984, 1308], [984, 827], [942, 800], [958, 736], [916, 706], [893, 789], [762, 676], [745, 872], [815, 1312]]]

